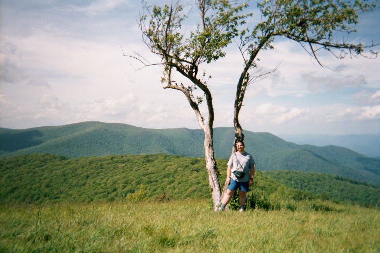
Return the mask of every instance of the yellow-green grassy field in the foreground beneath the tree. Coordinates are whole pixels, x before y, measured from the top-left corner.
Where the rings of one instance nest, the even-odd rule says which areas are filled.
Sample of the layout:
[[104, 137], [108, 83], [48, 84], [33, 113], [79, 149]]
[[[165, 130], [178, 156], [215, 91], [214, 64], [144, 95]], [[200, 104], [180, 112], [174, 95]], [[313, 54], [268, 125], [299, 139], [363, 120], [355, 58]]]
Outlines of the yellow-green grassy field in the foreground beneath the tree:
[[245, 213], [213, 213], [208, 200], [194, 199], [0, 206], [0, 252], [7, 253], [375, 253], [379, 234], [379, 208], [330, 202]]

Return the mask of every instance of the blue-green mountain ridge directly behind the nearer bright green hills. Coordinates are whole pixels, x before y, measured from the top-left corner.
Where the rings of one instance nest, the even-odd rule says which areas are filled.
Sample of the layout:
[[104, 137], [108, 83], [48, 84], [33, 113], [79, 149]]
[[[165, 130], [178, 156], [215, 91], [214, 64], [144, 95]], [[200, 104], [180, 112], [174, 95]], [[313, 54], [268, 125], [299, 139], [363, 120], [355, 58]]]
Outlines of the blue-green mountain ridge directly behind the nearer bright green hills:
[[[286, 142], [270, 133], [244, 131], [257, 169], [325, 172], [380, 184], [380, 159], [350, 149]], [[231, 154], [233, 127], [214, 129], [215, 155]], [[145, 129], [127, 124], [82, 122], [24, 130], [0, 128], [0, 157], [49, 153], [71, 158], [108, 154], [175, 154], [202, 157], [203, 132], [187, 128]], [[225, 169], [225, 165], [219, 165]]]

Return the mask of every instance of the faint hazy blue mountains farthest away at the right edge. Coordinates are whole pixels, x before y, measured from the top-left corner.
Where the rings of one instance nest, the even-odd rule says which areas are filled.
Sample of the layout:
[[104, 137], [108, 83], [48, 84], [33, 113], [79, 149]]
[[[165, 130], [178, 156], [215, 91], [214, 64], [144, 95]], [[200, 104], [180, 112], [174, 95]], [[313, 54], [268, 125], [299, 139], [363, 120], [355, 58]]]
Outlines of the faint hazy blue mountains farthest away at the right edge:
[[280, 138], [296, 144], [335, 145], [349, 148], [369, 157], [380, 157], [380, 134], [280, 134]]

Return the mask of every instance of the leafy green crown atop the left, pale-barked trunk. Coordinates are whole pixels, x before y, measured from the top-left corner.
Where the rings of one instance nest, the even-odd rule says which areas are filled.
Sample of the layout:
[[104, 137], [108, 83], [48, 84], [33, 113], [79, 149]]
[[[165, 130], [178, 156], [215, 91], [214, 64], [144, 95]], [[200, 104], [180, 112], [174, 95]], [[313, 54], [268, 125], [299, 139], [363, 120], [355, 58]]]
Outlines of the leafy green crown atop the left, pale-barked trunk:
[[187, 33], [182, 30], [187, 13], [179, 1], [153, 7], [142, 3], [140, 29], [145, 44], [161, 57], [163, 64], [192, 76], [196, 76], [194, 70], [199, 64], [225, 56], [223, 49], [238, 35], [238, 26], [245, 23], [246, 15], [239, 13], [247, 7], [228, 0], [198, 0], [200, 21], [196, 29]]

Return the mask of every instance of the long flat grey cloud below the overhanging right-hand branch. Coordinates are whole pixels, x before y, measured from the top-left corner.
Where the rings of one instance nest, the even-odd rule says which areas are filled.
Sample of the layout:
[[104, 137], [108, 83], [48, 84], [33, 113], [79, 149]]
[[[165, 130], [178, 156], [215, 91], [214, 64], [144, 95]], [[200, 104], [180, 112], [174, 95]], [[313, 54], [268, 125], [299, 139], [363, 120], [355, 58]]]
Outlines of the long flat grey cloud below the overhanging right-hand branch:
[[301, 78], [308, 84], [309, 90], [316, 91], [322, 87], [329, 89], [340, 89], [343, 87], [359, 87], [363, 84], [367, 84], [367, 81], [363, 75], [359, 76], [317, 76], [314, 72], [301, 73]]

